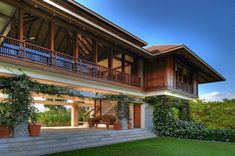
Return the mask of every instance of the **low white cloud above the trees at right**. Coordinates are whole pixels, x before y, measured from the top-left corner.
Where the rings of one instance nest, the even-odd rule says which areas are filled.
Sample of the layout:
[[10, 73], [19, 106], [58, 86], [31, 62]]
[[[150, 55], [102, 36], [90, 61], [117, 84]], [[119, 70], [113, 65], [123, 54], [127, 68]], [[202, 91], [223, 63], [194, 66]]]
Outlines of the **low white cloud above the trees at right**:
[[234, 99], [235, 93], [211, 92], [199, 96], [204, 101], [222, 101], [223, 99]]

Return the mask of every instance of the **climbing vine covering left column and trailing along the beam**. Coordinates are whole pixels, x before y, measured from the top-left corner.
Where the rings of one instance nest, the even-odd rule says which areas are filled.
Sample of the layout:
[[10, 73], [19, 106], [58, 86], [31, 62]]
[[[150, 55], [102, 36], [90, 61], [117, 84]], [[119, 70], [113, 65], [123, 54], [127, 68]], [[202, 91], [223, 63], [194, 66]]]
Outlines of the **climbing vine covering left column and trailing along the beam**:
[[11, 125], [11, 128], [20, 123], [28, 122], [29, 119], [32, 123], [36, 122], [36, 108], [32, 104], [32, 92], [83, 97], [79, 91], [41, 84], [31, 80], [24, 73], [12, 77], [1, 77], [0, 89], [4, 95], [7, 95], [6, 99], [2, 101], [3, 105], [0, 105], [2, 107], [0, 110], [5, 110], [0, 114], [0, 120], [7, 121], [7, 125]]

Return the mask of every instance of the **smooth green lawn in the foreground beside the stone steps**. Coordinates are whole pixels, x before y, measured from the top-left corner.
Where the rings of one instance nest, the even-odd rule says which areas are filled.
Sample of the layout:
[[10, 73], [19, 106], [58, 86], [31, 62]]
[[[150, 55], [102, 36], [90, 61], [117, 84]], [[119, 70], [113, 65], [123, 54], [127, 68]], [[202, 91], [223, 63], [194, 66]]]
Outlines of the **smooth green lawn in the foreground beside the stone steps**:
[[52, 156], [235, 156], [235, 143], [154, 138]]

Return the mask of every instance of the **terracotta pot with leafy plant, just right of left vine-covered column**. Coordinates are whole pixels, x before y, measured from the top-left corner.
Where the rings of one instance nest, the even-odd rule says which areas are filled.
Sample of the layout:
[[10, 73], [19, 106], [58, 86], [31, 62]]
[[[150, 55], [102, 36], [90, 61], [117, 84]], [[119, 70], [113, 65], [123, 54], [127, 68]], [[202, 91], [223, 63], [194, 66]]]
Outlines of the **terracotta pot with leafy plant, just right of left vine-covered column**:
[[29, 130], [29, 135], [31, 137], [37, 137], [40, 135], [41, 132], [41, 125], [37, 123], [37, 109], [33, 104], [29, 106], [29, 111], [30, 111], [30, 122], [28, 125], [28, 130]]

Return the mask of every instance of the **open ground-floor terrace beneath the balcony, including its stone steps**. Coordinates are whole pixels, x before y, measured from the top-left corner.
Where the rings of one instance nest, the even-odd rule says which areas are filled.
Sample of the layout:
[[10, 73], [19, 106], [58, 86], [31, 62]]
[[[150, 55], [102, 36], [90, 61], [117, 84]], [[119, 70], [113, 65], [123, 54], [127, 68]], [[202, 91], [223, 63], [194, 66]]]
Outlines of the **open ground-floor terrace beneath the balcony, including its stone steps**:
[[[14, 75], [7, 74], [2, 74], [1, 76], [7, 78], [14, 77]], [[42, 127], [41, 134], [38, 137], [29, 137], [29, 135], [25, 133], [25, 131], [28, 132], [28, 128], [22, 128], [20, 130], [20, 132], [22, 132], [21, 134], [12, 135], [14, 137], [6, 139], [0, 139], [1, 155], [43, 155], [155, 137], [155, 135], [146, 126], [146, 121], [148, 120], [148, 118], [146, 118], [147, 105], [144, 103], [133, 102], [128, 104], [128, 116], [130, 117], [129, 123], [131, 123], [131, 127], [129, 127], [130, 129], [122, 127], [121, 130], [113, 130], [114, 123], [120, 121], [116, 116], [118, 101], [102, 99], [102, 96], [100, 96], [105, 94], [108, 95], [110, 92], [95, 88], [95, 91], [88, 92], [85, 90], [75, 89], [75, 87], [78, 86], [71, 87], [70, 85], [69, 87], [68, 84], [66, 85], [54, 81], [43, 81], [27, 76], [26, 79], [28, 78], [30, 79], [29, 83], [32, 81], [34, 83], [38, 82], [39, 84], [49, 86], [63, 86], [69, 88], [69, 91], [76, 93], [79, 92], [79, 94], [83, 96], [70, 96], [64, 94], [53, 95], [30, 91], [33, 104], [67, 106], [71, 111], [71, 125], [68, 127]], [[19, 83], [20, 81], [17, 79], [16, 82]], [[15, 89], [17, 88], [15, 87]], [[21, 90], [19, 90], [19, 92], [21, 92]], [[116, 94], [118, 93], [113, 93], [113, 95]], [[16, 95], [18, 94], [16, 93]], [[5, 99], [9, 99], [9, 97], [2, 92], [0, 100], [3, 101]], [[27, 97], [24, 97], [23, 101], [26, 99]], [[96, 126], [97, 124], [90, 126], [89, 120], [79, 122], [78, 115], [79, 109], [81, 108], [86, 108], [87, 116], [90, 119], [102, 115], [109, 115], [113, 116], [116, 120], [114, 123], [110, 123], [109, 128], [107, 128], [107, 122], [100, 119], [98, 120], [98, 126]], [[148, 116], [149, 118], [151, 117], [150, 115]], [[150, 121], [148, 123], [151, 123], [151, 120], [148, 121]], [[28, 127], [28, 121], [26, 122], [26, 126]], [[127, 120], [124, 122], [128, 124]], [[14, 129], [16, 128], [13, 127], [13, 131]]]

